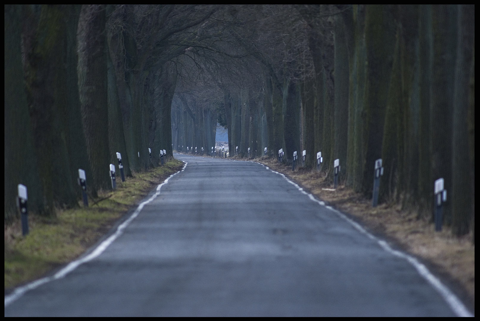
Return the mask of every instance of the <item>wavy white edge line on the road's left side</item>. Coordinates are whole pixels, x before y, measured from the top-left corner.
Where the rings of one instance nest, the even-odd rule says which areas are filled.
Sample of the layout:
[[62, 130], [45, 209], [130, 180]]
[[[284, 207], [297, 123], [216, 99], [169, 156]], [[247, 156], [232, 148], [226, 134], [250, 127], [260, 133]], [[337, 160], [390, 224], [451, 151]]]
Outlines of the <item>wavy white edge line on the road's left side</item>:
[[[184, 171], [185, 167], [187, 167], [188, 162], [184, 161], [184, 163], [185, 163], [185, 165], [183, 166], [183, 169], [181, 171]], [[23, 287], [17, 287], [13, 291], [12, 294], [5, 297], [5, 307], [8, 306], [13, 301], [15, 301], [16, 299], [20, 298], [25, 292], [27, 292], [29, 290], [33, 290], [34, 288], [39, 287], [44, 283], [47, 283], [47, 282], [50, 282], [50, 281], [53, 281], [53, 280], [57, 280], [61, 277], [64, 277], [65, 275], [67, 275], [68, 273], [70, 273], [74, 269], [76, 269], [79, 265], [95, 259], [98, 255], [100, 255], [103, 251], [105, 251], [105, 249], [107, 249], [108, 245], [110, 245], [113, 241], [115, 241], [122, 234], [123, 230], [130, 224], [130, 222], [132, 222], [133, 218], [136, 218], [138, 216], [138, 214], [140, 214], [140, 212], [142, 211], [142, 209], [144, 208], [144, 206], [146, 204], [150, 203], [151, 201], [153, 201], [156, 198], [156, 196], [160, 195], [160, 189], [162, 188], [162, 186], [165, 185], [166, 183], [168, 183], [168, 180], [170, 180], [170, 178], [172, 178], [174, 175], [177, 175], [178, 173], [180, 173], [180, 171], [171, 174], [170, 176], [168, 176], [168, 178], [163, 183], [159, 184], [156, 187], [156, 193], [154, 195], [152, 195], [146, 201], [140, 203], [140, 205], [132, 213], [132, 215], [127, 220], [125, 220], [123, 223], [121, 223], [119, 225], [119, 227], [117, 228], [115, 233], [110, 235], [107, 238], [107, 240], [101, 242], [100, 245], [98, 245], [96, 247], [96, 249], [93, 250], [93, 252], [84, 256], [83, 258], [80, 258], [78, 260], [75, 260], [75, 261], [69, 263], [67, 266], [65, 266], [63, 269], [61, 269], [59, 272], [57, 272], [53, 276], [48, 276], [48, 277], [38, 279], [38, 280], [36, 280], [34, 282], [31, 282], [31, 283], [29, 283], [29, 284], [27, 284]]]

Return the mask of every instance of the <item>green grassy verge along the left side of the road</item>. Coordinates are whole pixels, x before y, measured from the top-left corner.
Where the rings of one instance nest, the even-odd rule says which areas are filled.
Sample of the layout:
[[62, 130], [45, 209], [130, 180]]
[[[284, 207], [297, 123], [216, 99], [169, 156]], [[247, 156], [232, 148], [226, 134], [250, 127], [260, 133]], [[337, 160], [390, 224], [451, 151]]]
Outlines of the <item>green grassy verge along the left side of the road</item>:
[[115, 191], [99, 191], [96, 205], [79, 202], [73, 209], [57, 208], [56, 218], [29, 216], [30, 234], [22, 236], [20, 220], [5, 224], [5, 292], [69, 263], [105, 235], [132, 206], [183, 163], [169, 160], [148, 172], [133, 173]]

